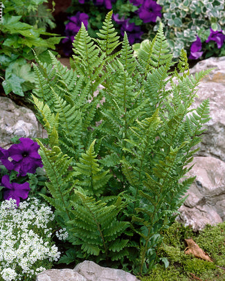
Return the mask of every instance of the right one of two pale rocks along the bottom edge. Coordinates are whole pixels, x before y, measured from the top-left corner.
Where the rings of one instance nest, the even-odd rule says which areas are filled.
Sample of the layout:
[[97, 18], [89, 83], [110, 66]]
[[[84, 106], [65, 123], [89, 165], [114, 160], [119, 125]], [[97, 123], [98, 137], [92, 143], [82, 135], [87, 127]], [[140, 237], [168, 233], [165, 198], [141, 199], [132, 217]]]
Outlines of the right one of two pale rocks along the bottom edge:
[[89, 260], [84, 260], [74, 270], [87, 278], [87, 281], [138, 281], [134, 275], [122, 269], [109, 269]]

